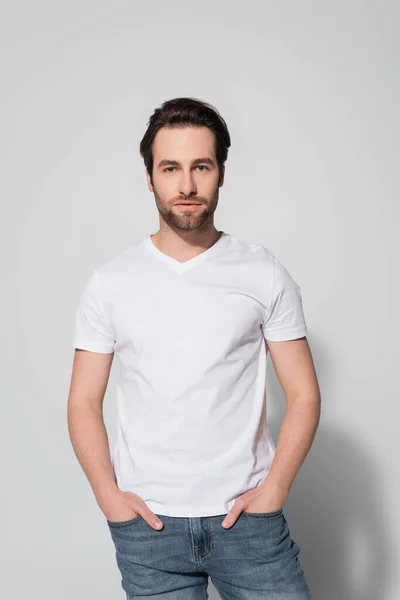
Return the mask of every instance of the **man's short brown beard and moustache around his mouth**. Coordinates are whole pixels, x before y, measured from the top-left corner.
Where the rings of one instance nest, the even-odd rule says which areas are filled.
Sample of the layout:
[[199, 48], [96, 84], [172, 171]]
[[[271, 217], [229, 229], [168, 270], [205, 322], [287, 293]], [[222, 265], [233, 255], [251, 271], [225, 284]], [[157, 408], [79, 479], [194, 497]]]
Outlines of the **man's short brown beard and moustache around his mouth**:
[[[193, 231], [195, 229], [200, 229], [201, 227], [204, 227], [204, 225], [212, 222], [212, 216], [218, 206], [219, 187], [217, 187], [217, 189], [214, 191], [211, 199], [204, 198], [203, 196], [191, 196], [189, 198], [178, 196], [168, 204], [164, 202], [164, 200], [158, 194], [156, 188], [154, 187], [154, 183], [153, 190], [158, 212], [165, 223], [171, 227], [171, 229], [179, 231]], [[179, 201], [199, 202], [201, 203], [201, 206], [199, 206], [199, 208], [195, 211], [188, 210], [185, 212], [178, 212], [179, 209], [173, 205]]]

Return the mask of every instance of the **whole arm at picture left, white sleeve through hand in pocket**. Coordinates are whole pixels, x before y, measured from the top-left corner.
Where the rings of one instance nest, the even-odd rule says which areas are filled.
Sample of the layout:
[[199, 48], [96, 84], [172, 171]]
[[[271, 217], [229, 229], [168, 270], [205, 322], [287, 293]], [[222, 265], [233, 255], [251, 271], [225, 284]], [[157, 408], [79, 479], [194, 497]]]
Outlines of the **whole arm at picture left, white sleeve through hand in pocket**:
[[116, 331], [94, 271], [80, 296], [75, 319], [68, 429], [75, 454], [107, 519], [140, 514], [151, 527], [162, 523], [137, 494], [118, 488], [103, 420], [103, 399], [114, 358]]

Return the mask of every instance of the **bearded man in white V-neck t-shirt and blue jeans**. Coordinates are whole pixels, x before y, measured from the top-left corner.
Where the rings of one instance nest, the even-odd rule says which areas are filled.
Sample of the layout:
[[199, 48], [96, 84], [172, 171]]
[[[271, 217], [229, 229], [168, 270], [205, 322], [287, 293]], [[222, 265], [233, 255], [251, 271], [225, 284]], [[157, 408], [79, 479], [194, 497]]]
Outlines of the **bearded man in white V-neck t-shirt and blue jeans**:
[[[214, 226], [230, 136], [209, 104], [165, 102], [140, 144], [160, 229], [90, 275], [79, 299], [71, 441], [127, 599], [309, 599], [283, 504], [320, 393], [301, 291], [272, 251]], [[287, 401], [275, 448], [270, 353]], [[112, 458], [102, 403], [120, 364]]]

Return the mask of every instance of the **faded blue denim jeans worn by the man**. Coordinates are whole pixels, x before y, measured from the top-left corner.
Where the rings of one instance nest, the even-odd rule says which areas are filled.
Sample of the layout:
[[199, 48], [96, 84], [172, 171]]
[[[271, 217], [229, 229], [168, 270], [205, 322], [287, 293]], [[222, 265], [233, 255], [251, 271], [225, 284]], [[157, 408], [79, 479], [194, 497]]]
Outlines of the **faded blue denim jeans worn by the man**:
[[127, 600], [206, 600], [208, 577], [223, 600], [310, 600], [282, 508], [244, 511], [228, 529], [224, 514], [157, 516], [160, 530], [141, 515], [107, 520]]

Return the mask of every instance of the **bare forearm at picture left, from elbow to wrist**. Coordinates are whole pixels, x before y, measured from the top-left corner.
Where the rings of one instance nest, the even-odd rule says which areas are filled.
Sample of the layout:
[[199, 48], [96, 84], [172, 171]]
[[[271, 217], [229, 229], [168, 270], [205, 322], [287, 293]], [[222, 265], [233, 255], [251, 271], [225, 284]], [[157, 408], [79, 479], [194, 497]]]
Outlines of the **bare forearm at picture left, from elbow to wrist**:
[[103, 415], [90, 407], [68, 407], [68, 429], [76, 457], [100, 506], [118, 490]]

